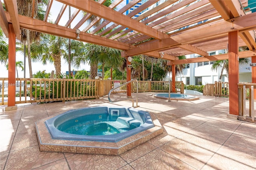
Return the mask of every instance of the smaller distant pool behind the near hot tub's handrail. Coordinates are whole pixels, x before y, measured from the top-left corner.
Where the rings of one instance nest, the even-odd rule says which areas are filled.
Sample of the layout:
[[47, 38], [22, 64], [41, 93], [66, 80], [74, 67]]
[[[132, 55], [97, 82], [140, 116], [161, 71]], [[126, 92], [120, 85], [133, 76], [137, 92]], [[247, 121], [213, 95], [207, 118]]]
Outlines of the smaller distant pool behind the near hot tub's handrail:
[[[160, 99], [169, 99], [169, 93], [156, 93], [153, 95], [156, 98]], [[180, 93], [170, 93], [170, 100], [186, 100], [186, 101], [193, 101], [198, 100], [199, 97], [192, 96], [192, 95], [185, 95]]]

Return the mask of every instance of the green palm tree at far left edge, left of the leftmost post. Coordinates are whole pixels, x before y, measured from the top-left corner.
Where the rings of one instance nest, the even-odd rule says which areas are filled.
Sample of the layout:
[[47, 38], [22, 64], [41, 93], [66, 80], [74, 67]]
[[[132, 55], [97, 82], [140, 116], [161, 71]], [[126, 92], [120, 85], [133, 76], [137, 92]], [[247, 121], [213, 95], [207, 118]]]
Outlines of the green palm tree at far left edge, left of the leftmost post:
[[8, 44], [7, 38], [4, 36], [4, 32], [0, 27], [0, 63], [7, 63], [8, 60]]

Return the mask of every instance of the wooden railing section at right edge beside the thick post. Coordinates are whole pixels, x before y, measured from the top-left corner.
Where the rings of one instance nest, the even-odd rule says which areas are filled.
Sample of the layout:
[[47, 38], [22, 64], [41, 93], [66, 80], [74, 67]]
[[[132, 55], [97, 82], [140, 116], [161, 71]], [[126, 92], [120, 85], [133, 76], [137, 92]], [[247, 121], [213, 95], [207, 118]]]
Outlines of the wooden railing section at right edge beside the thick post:
[[[254, 113], [254, 89], [256, 83], [238, 83], [238, 113], [242, 120], [255, 122]], [[246, 105], [246, 99], [249, 99], [249, 105]]]

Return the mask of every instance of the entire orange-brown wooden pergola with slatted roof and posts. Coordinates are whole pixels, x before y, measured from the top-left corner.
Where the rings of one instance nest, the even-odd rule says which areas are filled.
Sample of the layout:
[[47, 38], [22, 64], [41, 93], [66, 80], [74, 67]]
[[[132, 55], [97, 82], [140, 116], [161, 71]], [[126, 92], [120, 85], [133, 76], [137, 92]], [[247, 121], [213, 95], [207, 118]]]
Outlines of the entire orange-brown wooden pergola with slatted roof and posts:
[[[56, 10], [52, 8], [54, 1], [60, 2], [62, 8], [52, 24], [48, 17], [50, 12]], [[230, 114], [238, 115], [238, 58], [252, 57], [252, 63], [256, 63], [256, 12], [244, 10], [248, 6], [247, 0], [166, 0], [162, 4], [158, 0], [148, 0], [127, 15], [124, 13], [140, 0], [132, 0], [128, 4], [126, 0], [114, 0], [108, 7], [103, 5], [105, 1], [49, 0], [44, 20], [38, 20], [34, 18], [34, 0], [29, 16], [18, 14], [16, 0], [4, 0], [6, 10], [0, 6], [0, 26], [9, 38], [8, 107], [15, 107], [15, 86], [12, 84], [15, 83], [15, 42], [16, 38], [21, 38], [20, 29], [74, 40], [78, 36], [76, 30], [79, 29], [80, 41], [120, 49], [122, 57], [145, 54], [169, 60], [169, 64], [173, 66], [172, 88], [175, 88], [175, 65], [228, 59]], [[152, 8], [157, 3], [159, 5]], [[70, 18], [63, 18], [68, 6], [76, 10]], [[69, 28], [81, 11], [87, 14]], [[139, 16], [134, 17], [140, 12]], [[96, 19], [84, 26], [92, 15], [97, 16]], [[102, 18], [102, 24], [94, 28], [94, 24]], [[66, 21], [65, 26], [58, 25], [61, 19]], [[249, 50], [238, 52], [238, 47], [241, 46], [247, 46]], [[208, 54], [209, 51], [227, 47], [227, 54]], [[180, 55], [193, 53], [202, 57], [178, 60]], [[128, 60], [127, 64], [130, 64]], [[127, 67], [127, 81], [130, 79], [131, 70]], [[252, 67], [252, 83], [256, 83], [256, 67]], [[127, 88], [129, 97], [131, 87]]]

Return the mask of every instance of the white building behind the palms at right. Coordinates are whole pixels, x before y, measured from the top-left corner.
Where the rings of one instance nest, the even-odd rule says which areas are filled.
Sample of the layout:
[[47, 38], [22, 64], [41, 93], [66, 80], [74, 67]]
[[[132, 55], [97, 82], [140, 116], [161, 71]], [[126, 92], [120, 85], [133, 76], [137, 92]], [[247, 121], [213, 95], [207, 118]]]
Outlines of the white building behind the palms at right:
[[[209, 52], [209, 55], [218, 55], [224, 53], [224, 50]], [[197, 54], [186, 55], [186, 58], [201, 57]], [[249, 58], [251, 59], [251, 58]], [[183, 81], [186, 85], [205, 85], [212, 84], [218, 81], [221, 69], [212, 71], [212, 61], [190, 63], [186, 64], [186, 68], [183, 70], [183, 74], [176, 77], [176, 81]], [[167, 80], [172, 79], [172, 75], [168, 75]], [[226, 76], [226, 70], [223, 71], [221, 81], [228, 82]], [[239, 81], [240, 82], [252, 82], [252, 69], [250, 61], [248, 64], [239, 65]]]

